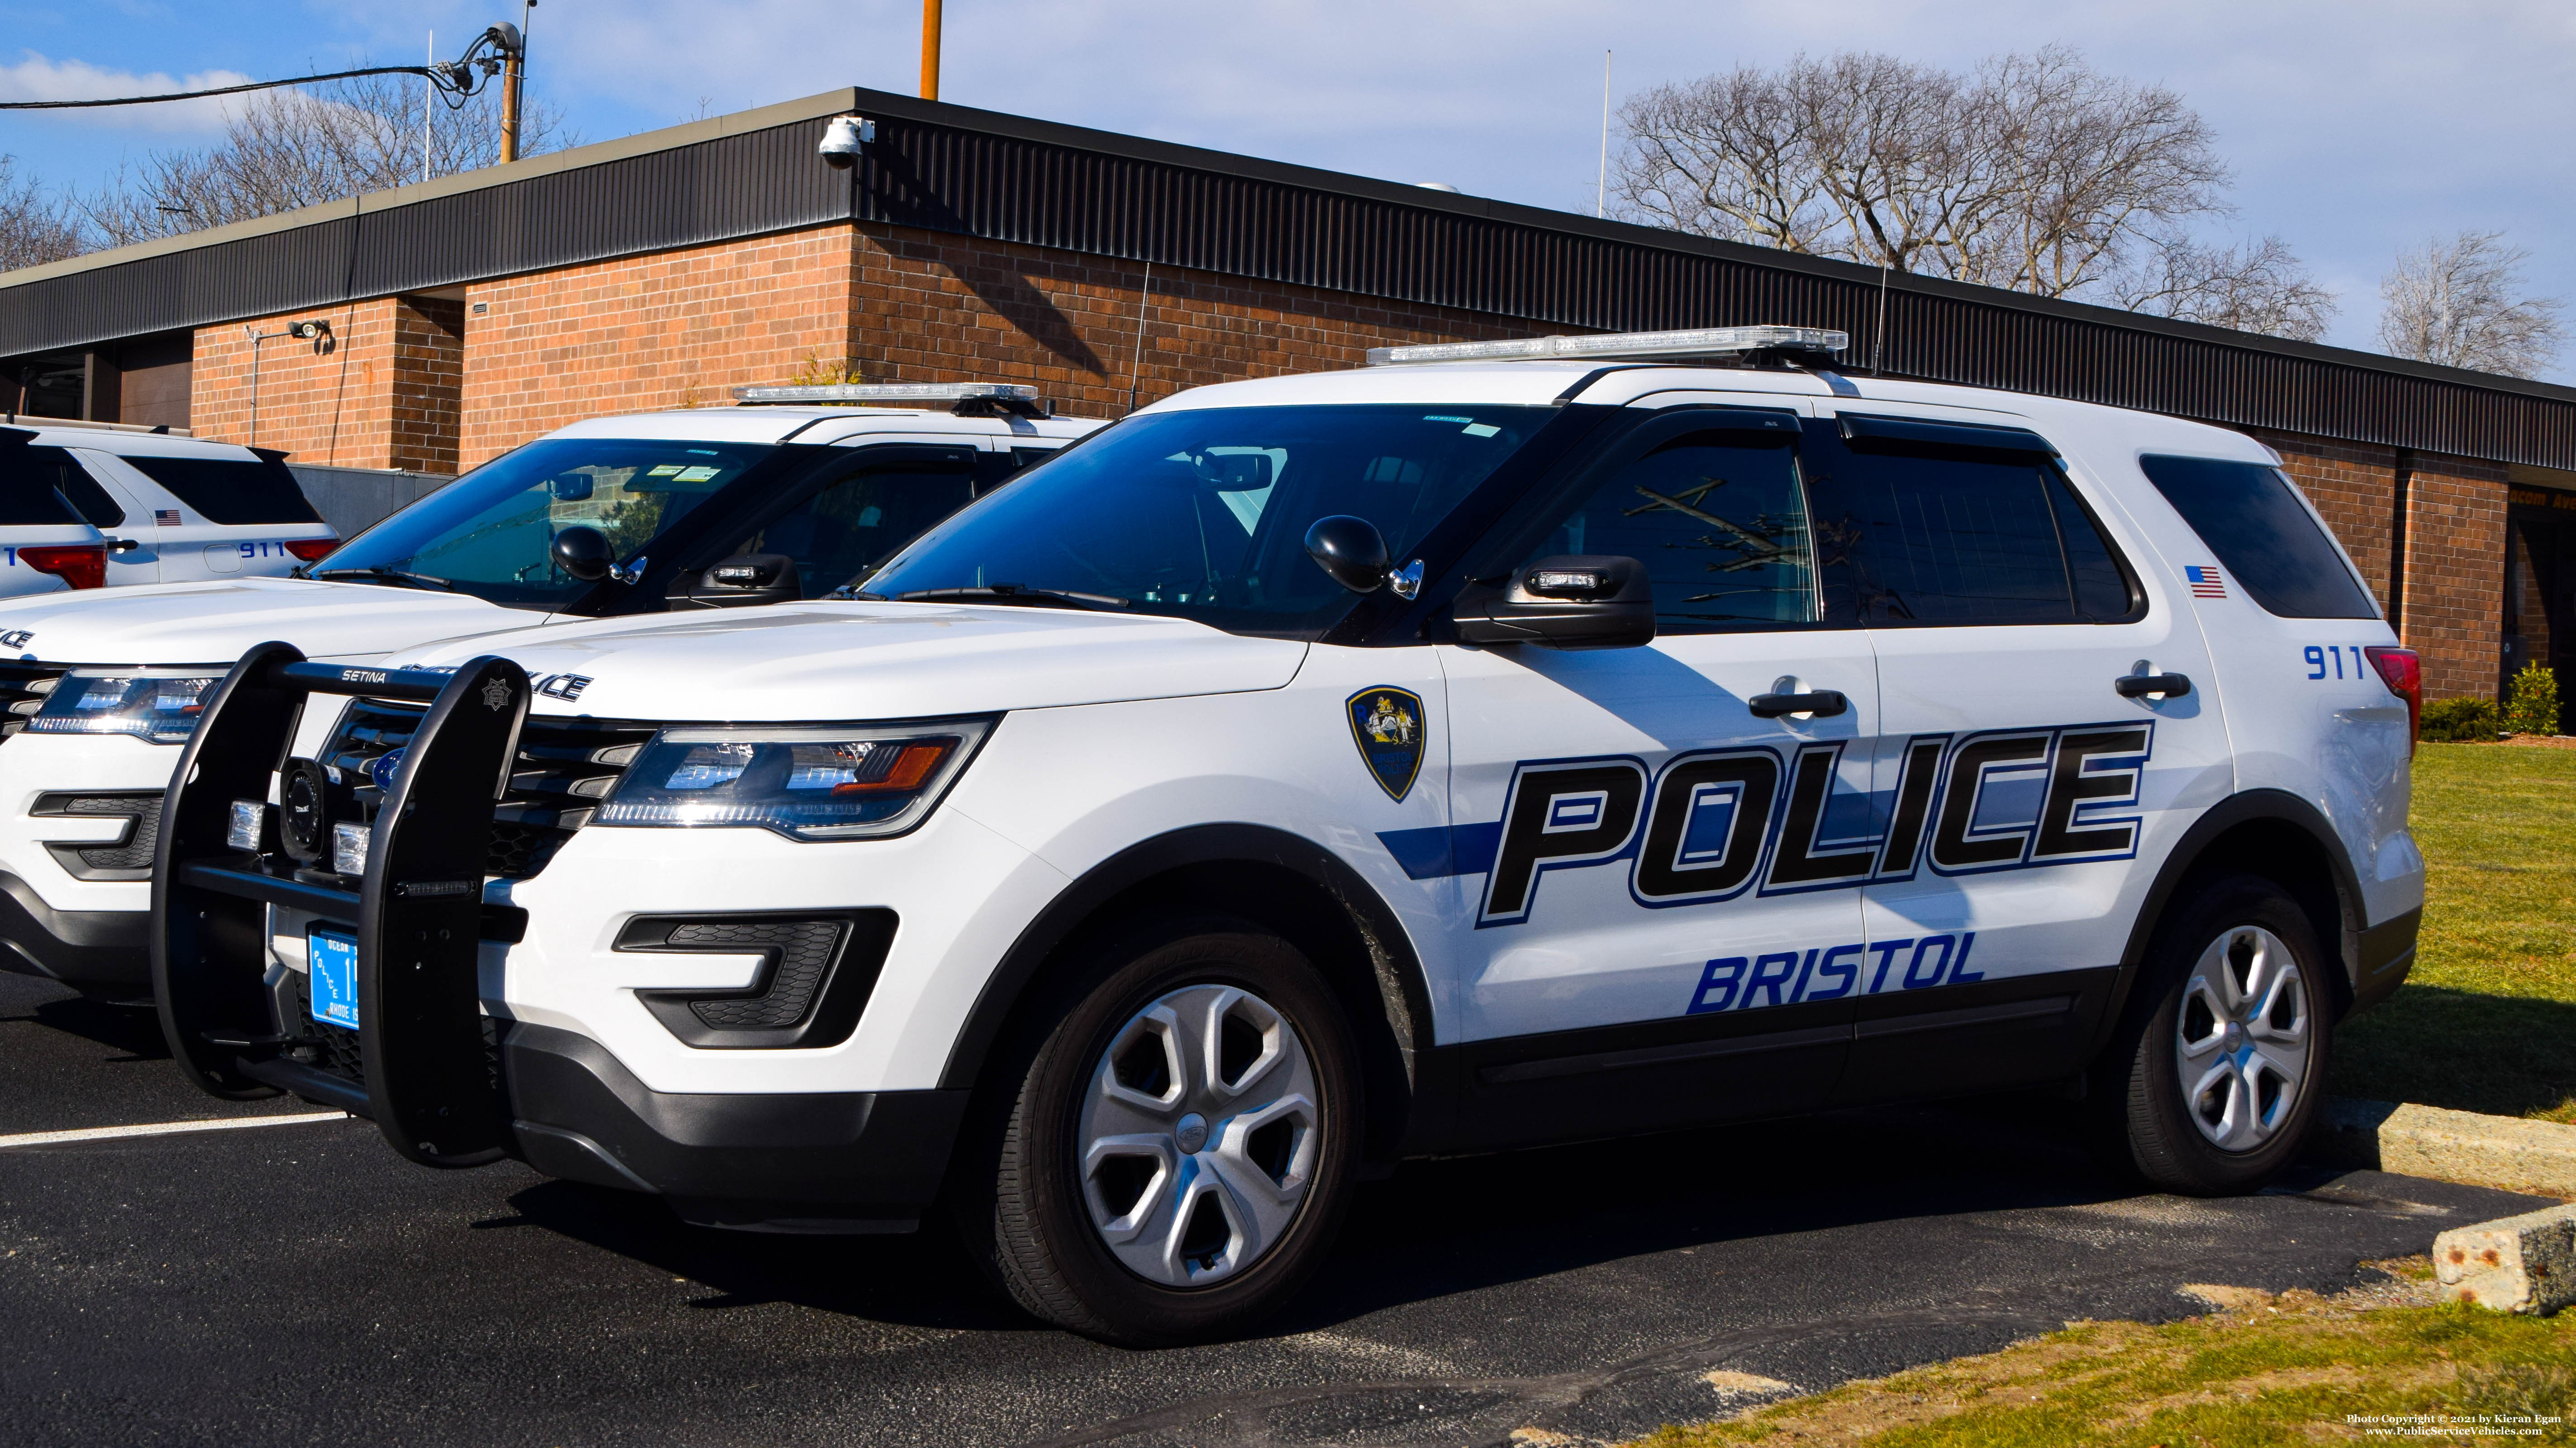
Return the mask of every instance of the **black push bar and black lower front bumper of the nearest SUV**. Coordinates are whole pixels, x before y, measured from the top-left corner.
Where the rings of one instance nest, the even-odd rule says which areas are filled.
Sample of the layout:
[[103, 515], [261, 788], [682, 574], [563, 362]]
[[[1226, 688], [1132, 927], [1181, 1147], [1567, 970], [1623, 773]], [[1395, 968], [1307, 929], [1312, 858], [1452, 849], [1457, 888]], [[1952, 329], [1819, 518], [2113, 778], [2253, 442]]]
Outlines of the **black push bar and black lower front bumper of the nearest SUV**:
[[[309, 694], [428, 702], [353, 877], [227, 844], [234, 800], [268, 800]], [[162, 805], [152, 985], [170, 1054], [214, 1096], [291, 1091], [368, 1116], [404, 1157], [502, 1157], [649, 1191], [680, 1217], [786, 1232], [904, 1232], [938, 1196], [963, 1091], [701, 1096], [647, 1088], [598, 1042], [482, 1011], [492, 802], [528, 715], [528, 676], [482, 656], [453, 674], [242, 656], [206, 702]], [[268, 962], [270, 910], [358, 941], [358, 1031], [299, 1008]]]

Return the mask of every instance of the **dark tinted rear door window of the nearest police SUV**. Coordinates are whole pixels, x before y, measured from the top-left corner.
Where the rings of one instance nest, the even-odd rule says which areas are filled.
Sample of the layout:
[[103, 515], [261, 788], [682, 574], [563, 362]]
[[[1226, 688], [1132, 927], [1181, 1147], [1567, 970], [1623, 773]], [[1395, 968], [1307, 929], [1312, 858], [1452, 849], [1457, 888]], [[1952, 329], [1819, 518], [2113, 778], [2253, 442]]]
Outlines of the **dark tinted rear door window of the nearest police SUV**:
[[2048, 625], [2133, 615], [2130, 571], [2048, 453], [1911, 437], [1862, 450], [1826, 430], [1811, 432], [1811, 442], [1829, 622]]

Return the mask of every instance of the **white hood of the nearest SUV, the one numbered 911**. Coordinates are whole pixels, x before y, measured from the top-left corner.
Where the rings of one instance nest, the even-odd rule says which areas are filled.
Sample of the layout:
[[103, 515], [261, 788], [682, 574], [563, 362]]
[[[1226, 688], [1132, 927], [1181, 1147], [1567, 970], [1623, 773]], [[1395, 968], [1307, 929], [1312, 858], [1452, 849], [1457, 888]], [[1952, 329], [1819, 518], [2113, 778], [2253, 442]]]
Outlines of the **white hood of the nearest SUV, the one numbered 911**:
[[899, 720], [1278, 689], [1306, 646], [1139, 615], [953, 604], [770, 604], [564, 622], [397, 653], [500, 653], [536, 712], [626, 720]]

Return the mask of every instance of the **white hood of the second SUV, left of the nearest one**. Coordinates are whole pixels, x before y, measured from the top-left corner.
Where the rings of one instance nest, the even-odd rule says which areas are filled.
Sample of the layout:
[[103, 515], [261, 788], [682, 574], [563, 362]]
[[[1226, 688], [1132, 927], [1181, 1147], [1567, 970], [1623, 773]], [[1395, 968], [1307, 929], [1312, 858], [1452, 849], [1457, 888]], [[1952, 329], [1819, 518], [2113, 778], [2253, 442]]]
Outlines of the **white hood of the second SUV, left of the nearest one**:
[[374, 656], [433, 638], [533, 628], [546, 615], [386, 584], [229, 579], [0, 599], [0, 658], [229, 664], [283, 638], [307, 656]]

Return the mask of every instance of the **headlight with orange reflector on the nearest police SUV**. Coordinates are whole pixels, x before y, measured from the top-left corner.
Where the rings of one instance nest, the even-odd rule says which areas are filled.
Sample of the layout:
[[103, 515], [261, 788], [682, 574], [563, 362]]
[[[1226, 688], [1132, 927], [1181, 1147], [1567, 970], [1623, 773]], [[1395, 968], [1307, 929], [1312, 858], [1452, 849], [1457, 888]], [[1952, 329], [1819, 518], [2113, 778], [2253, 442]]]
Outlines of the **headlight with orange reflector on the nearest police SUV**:
[[600, 826], [760, 826], [788, 838], [904, 833], [940, 802], [992, 720], [667, 728], [600, 805]]

